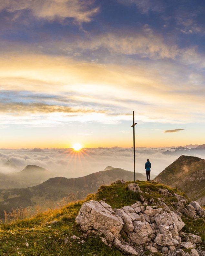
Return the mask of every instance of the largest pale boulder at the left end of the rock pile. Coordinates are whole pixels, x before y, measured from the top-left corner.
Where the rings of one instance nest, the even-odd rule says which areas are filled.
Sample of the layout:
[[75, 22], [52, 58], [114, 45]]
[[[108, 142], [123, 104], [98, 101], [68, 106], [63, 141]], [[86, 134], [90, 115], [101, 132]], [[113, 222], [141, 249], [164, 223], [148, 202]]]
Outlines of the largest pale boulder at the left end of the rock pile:
[[104, 201], [84, 202], [76, 217], [76, 222], [84, 232], [99, 231], [111, 241], [114, 236], [119, 237], [119, 232], [123, 228], [122, 218], [115, 215], [111, 206]]

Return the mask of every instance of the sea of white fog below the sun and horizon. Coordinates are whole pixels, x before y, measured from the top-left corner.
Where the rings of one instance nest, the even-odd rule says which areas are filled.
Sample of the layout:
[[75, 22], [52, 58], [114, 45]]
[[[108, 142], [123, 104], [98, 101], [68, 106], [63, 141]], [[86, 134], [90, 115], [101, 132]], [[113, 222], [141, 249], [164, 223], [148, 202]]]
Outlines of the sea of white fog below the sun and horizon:
[[[158, 175], [179, 157], [164, 155], [166, 150], [167, 148], [136, 149], [136, 171], [144, 172], [145, 162], [149, 158], [152, 174]], [[187, 155], [205, 158], [205, 150], [203, 152], [200, 155], [188, 152]], [[8, 160], [14, 166], [5, 165]], [[73, 149], [0, 149], [0, 172], [18, 172], [26, 165], [38, 165], [53, 172], [52, 176], [67, 178], [101, 171], [108, 165], [133, 171], [133, 148], [86, 148], [79, 153]]]

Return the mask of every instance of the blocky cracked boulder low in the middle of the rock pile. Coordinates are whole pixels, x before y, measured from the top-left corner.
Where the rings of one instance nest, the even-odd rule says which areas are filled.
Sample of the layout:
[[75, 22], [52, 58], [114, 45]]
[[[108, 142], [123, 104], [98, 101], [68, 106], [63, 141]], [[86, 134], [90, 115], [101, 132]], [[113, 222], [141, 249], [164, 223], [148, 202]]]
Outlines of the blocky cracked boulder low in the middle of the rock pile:
[[143, 244], [149, 242], [150, 235], [153, 234], [152, 228], [148, 222], [133, 221], [134, 232], [128, 234], [128, 238], [134, 244]]

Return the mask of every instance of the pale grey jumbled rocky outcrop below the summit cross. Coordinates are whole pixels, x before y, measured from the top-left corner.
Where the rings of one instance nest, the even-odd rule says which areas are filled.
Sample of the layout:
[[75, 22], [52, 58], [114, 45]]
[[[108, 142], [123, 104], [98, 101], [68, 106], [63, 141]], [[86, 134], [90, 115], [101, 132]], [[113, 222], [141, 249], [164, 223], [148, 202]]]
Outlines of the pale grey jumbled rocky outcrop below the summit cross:
[[[140, 193], [136, 184], [128, 184], [128, 189]], [[161, 194], [165, 193], [171, 197], [168, 190], [161, 189]], [[169, 256], [173, 253], [173, 256], [185, 256], [183, 249], [189, 249], [189, 255], [198, 256], [194, 248], [201, 242], [201, 238], [181, 232], [185, 224], [180, 218], [180, 210], [185, 208], [195, 216], [203, 210], [195, 201], [187, 206], [188, 200], [185, 197], [177, 194], [173, 196], [181, 206], [176, 212], [163, 202], [163, 198], [159, 198], [155, 206], [149, 206], [147, 202], [142, 205], [137, 201], [120, 209], [112, 209], [104, 201], [91, 200], [83, 203], [76, 221], [85, 233], [94, 233], [107, 245], [115, 245], [127, 254], [142, 255], [145, 250], [150, 250]]]

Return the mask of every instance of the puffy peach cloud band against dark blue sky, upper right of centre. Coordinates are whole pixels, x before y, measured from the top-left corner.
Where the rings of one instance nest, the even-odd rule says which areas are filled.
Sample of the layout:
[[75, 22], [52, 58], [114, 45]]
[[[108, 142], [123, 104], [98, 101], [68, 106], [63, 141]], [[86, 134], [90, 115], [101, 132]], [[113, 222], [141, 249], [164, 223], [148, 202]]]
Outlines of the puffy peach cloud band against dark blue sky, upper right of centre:
[[96, 51], [108, 49], [112, 54], [139, 55], [151, 59], [175, 59], [180, 55], [177, 45], [168, 45], [161, 35], [154, 33], [149, 25], [144, 25], [141, 32], [119, 31], [101, 34], [79, 42], [78, 47]]

